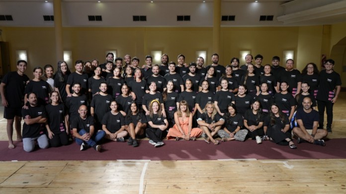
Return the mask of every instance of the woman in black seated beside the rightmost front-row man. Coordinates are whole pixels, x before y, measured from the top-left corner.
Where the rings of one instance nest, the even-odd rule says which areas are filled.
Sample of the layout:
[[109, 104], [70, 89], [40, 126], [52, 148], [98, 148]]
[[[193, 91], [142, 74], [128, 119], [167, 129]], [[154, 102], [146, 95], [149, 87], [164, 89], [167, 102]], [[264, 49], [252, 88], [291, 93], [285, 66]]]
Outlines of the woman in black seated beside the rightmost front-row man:
[[280, 111], [278, 105], [272, 104], [270, 106], [270, 114], [265, 118], [263, 126], [267, 136], [263, 136], [262, 140], [272, 140], [279, 145], [289, 145], [292, 149], [297, 148], [292, 141], [292, 134], [288, 132], [288, 118], [286, 114]]

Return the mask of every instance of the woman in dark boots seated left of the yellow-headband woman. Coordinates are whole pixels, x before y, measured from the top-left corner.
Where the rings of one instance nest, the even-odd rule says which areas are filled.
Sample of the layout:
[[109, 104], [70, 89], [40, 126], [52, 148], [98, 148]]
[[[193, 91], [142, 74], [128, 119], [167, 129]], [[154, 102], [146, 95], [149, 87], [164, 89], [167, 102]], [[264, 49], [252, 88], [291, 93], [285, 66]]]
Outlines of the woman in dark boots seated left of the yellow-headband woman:
[[[131, 102], [130, 111], [125, 118], [125, 129], [130, 134], [129, 140], [127, 141], [128, 145], [133, 147], [138, 146], [138, 138], [145, 137], [145, 129], [147, 128], [147, 121], [142, 112], [139, 112], [138, 105], [135, 101]], [[136, 137], [137, 136], [137, 137]]]

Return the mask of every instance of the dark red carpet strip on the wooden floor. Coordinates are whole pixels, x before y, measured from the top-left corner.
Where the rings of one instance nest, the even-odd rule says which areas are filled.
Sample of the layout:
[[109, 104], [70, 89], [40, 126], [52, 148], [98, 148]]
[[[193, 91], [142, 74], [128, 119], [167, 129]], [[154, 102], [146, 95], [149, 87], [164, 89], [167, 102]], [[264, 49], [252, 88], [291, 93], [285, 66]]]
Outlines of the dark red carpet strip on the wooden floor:
[[[217, 160], [217, 159], [341, 159], [346, 158], [346, 138], [326, 140], [326, 146], [310, 143], [296, 144], [298, 149], [276, 145], [270, 141], [256, 144], [255, 140], [220, 142], [219, 145], [197, 141], [165, 140], [165, 145], [155, 148], [148, 140], [141, 140], [139, 147], [127, 143], [106, 142], [97, 152], [92, 148], [80, 151], [75, 142], [68, 146], [23, 150], [21, 142], [15, 149], [8, 149], [7, 141], [0, 141], [0, 161], [39, 160]], [[296, 142], [294, 140], [294, 142]]]

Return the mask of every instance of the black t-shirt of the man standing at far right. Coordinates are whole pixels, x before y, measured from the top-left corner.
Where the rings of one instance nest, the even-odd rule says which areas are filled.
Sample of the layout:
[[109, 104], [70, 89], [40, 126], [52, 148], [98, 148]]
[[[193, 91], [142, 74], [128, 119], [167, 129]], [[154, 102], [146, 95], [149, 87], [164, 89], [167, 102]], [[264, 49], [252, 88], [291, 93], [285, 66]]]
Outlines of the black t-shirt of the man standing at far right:
[[320, 72], [320, 85], [318, 87], [317, 100], [331, 101], [335, 97], [334, 89], [341, 85], [341, 78], [339, 73], [333, 71], [327, 73], [326, 70]]

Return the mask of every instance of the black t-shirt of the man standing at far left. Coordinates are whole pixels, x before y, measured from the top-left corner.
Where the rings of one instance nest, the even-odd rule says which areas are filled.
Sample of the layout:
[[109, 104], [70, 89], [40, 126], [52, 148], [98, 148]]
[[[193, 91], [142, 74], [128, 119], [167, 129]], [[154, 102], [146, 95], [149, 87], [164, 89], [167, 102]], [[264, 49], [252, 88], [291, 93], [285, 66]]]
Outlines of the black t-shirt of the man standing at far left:
[[24, 90], [29, 77], [25, 74], [19, 75], [17, 71], [11, 71], [5, 74], [2, 83], [5, 86], [5, 97], [8, 108], [21, 108], [24, 105]]

